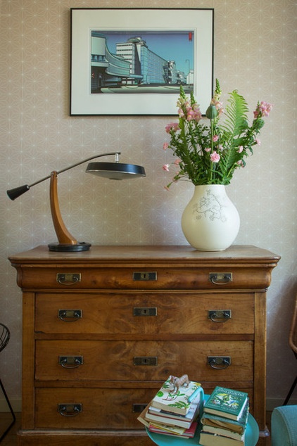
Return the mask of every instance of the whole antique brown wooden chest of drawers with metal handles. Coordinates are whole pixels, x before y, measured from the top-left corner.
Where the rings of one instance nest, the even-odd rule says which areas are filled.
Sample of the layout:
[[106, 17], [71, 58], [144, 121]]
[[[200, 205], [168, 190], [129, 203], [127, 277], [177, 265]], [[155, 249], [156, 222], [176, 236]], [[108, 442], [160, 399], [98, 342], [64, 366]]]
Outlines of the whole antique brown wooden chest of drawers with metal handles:
[[38, 247], [23, 289], [21, 446], [152, 445], [138, 413], [170, 374], [246, 390], [265, 423], [265, 291], [279, 257], [253, 246]]

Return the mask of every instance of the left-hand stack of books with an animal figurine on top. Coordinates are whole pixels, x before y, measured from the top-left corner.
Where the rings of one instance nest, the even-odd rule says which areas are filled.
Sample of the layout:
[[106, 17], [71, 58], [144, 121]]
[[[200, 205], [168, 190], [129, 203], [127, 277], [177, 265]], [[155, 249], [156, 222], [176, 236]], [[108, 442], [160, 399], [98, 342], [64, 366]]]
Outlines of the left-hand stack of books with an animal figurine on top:
[[138, 420], [154, 433], [193, 438], [198, 414], [202, 413], [203, 395], [201, 384], [195, 381], [175, 392], [168, 378]]

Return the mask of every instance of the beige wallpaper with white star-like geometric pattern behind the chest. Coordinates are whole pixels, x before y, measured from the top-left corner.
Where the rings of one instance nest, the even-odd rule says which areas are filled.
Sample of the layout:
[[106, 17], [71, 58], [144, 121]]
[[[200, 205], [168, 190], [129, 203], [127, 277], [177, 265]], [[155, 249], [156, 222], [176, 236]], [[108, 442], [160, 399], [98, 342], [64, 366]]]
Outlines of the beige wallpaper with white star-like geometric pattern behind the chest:
[[[65, 223], [94, 244], [186, 244], [182, 211], [191, 184], [165, 191], [165, 125], [172, 117], [70, 117], [70, 8], [181, 8], [176, 0], [2, 0], [0, 26], [0, 320], [11, 329], [0, 375], [20, 402], [21, 295], [12, 253], [55, 241], [44, 182], [14, 202], [6, 189], [105, 151], [146, 167], [146, 178], [108, 182], [84, 167], [59, 177]], [[262, 144], [237, 172], [228, 194], [241, 215], [238, 244], [282, 255], [268, 292], [267, 396], [282, 404], [296, 374], [288, 347], [296, 293], [296, 1], [188, 0], [215, 8], [215, 77], [225, 93], [239, 89], [251, 106], [274, 103]], [[166, 12], [164, 23], [166, 23]], [[223, 97], [224, 100], [224, 97]]]

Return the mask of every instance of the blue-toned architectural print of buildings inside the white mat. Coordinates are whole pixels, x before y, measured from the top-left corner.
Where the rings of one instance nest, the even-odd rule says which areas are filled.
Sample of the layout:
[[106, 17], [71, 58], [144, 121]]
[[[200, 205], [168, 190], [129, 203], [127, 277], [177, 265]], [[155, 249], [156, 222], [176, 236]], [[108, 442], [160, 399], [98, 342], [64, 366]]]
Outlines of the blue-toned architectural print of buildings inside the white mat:
[[92, 94], [193, 90], [194, 31], [129, 35], [91, 31]]

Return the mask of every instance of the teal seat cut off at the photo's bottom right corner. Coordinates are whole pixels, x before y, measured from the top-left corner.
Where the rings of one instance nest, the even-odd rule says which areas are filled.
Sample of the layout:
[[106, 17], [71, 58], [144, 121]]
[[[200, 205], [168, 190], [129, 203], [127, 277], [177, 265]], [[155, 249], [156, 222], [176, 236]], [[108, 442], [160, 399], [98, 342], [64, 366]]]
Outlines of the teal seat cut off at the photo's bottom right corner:
[[297, 446], [297, 405], [276, 407], [273, 410], [271, 445]]

